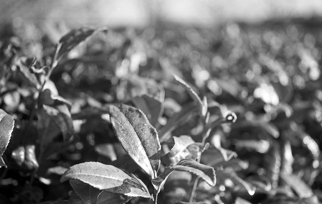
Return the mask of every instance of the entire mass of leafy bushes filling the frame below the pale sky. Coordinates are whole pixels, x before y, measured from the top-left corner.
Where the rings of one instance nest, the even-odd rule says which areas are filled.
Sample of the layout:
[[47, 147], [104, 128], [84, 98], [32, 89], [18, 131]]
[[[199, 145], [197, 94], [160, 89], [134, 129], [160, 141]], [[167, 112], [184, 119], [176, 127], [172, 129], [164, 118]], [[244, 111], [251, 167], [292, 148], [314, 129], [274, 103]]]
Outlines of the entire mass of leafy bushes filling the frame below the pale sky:
[[1, 203], [320, 203], [321, 29], [161, 28], [2, 38]]

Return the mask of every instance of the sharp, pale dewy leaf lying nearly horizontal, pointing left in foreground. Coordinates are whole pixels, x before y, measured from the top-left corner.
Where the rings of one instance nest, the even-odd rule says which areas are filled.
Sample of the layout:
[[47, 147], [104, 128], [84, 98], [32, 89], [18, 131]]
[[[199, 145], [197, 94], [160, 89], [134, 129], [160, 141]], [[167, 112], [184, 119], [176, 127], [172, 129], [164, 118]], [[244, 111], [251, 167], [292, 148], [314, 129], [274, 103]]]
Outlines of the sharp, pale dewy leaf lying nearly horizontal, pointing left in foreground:
[[99, 162], [85, 162], [71, 166], [60, 181], [78, 179], [100, 190], [128, 196], [151, 197], [147, 187], [119, 168]]

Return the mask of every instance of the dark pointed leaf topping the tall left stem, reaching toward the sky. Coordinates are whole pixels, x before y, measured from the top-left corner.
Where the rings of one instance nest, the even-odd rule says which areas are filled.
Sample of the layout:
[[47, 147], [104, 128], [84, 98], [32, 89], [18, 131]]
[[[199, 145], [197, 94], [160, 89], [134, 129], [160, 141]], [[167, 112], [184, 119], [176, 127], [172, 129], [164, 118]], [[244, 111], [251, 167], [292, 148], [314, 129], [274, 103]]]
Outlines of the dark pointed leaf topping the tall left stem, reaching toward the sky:
[[80, 29], [74, 29], [70, 31], [68, 34], [66, 34], [59, 40], [59, 44], [61, 44], [61, 47], [58, 51], [57, 60], [59, 61], [64, 54], [68, 54], [69, 51], [71, 51], [77, 45], [81, 45], [85, 43], [98, 32], [107, 33], [107, 31], [108, 31], [107, 28], [99, 28], [99, 29], [80, 28]]

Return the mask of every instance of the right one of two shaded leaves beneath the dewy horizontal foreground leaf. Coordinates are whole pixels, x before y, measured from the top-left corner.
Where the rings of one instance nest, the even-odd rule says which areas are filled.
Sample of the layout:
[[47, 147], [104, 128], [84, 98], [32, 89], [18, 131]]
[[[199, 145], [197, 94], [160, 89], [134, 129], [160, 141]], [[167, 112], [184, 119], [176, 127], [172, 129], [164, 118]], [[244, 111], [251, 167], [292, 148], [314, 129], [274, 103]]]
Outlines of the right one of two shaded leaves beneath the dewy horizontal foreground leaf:
[[105, 203], [113, 203], [113, 204], [125, 204], [127, 203], [132, 197], [112, 193], [107, 191], [102, 191], [99, 196], [97, 197], [96, 204], [105, 204]]

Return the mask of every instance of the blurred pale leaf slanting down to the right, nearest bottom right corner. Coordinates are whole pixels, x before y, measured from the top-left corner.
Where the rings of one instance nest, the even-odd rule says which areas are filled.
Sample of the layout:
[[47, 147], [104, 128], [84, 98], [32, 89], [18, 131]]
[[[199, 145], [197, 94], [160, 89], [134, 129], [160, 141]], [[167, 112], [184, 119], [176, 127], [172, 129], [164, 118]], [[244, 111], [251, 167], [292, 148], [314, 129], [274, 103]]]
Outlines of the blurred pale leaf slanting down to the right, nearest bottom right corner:
[[298, 176], [294, 174], [280, 174], [281, 178], [291, 186], [300, 198], [308, 198], [313, 196], [312, 189]]

